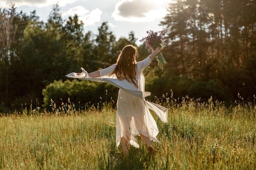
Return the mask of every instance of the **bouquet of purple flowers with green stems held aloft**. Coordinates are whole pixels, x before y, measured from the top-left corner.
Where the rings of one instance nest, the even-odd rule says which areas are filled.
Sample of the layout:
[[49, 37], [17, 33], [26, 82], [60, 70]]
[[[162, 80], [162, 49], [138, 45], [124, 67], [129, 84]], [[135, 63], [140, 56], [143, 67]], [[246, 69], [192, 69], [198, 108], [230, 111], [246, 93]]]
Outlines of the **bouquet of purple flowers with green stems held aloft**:
[[[148, 36], [142, 38], [141, 40], [139, 40], [139, 42], [142, 42], [144, 40], [145, 41], [145, 45], [151, 49], [151, 51], [153, 52], [157, 47], [160, 48], [160, 50], [162, 50], [164, 48], [164, 44], [163, 44], [163, 40], [162, 40], [162, 36], [164, 35], [164, 33], [166, 32], [166, 29], [164, 29], [164, 31], [162, 31], [162, 33], [160, 33], [158, 35], [157, 32], [153, 32], [152, 30], [147, 31]], [[164, 59], [162, 53], [158, 53], [157, 54], [157, 62], [158, 62], [158, 66], [159, 68], [163, 71], [164, 69], [164, 64], [166, 64], [166, 60]]]

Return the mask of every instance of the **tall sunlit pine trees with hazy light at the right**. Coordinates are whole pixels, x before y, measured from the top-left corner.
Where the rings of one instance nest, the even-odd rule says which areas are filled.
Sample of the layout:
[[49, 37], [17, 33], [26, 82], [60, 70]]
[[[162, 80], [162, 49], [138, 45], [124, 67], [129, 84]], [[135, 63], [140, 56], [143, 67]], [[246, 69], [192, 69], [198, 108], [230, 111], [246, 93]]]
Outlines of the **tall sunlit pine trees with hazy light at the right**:
[[177, 0], [161, 24], [178, 96], [255, 101], [256, 1]]

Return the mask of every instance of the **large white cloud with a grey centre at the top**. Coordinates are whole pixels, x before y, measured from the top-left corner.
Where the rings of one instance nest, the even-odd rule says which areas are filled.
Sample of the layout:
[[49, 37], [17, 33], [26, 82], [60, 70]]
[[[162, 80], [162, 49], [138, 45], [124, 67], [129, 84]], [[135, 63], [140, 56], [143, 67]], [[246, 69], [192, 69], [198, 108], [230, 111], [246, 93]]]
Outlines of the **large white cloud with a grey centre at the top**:
[[115, 6], [112, 17], [119, 21], [153, 22], [163, 18], [170, 0], [121, 0]]

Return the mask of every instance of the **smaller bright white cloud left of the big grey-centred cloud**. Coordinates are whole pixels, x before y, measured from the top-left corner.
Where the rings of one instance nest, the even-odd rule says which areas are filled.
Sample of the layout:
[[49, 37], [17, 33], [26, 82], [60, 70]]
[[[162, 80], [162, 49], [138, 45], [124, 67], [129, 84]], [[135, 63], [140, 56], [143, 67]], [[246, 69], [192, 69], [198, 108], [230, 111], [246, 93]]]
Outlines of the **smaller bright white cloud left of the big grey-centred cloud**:
[[96, 22], [101, 22], [102, 11], [98, 8], [89, 11], [85, 9], [85, 7], [79, 5], [69, 9], [68, 11], [62, 12], [62, 16], [64, 18], [68, 16], [74, 16], [75, 14], [79, 17], [79, 20], [83, 21], [84, 26], [95, 25]]

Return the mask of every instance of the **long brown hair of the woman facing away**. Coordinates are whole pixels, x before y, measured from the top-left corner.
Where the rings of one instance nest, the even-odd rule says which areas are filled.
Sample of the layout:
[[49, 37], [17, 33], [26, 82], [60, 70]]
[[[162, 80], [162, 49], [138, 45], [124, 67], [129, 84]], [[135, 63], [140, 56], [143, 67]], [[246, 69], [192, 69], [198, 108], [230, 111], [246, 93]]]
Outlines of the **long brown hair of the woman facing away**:
[[120, 80], [126, 79], [138, 88], [138, 82], [135, 77], [137, 69], [135, 58], [137, 57], [139, 57], [137, 47], [133, 45], [125, 46], [117, 58], [116, 67], [111, 75], [115, 74]]

